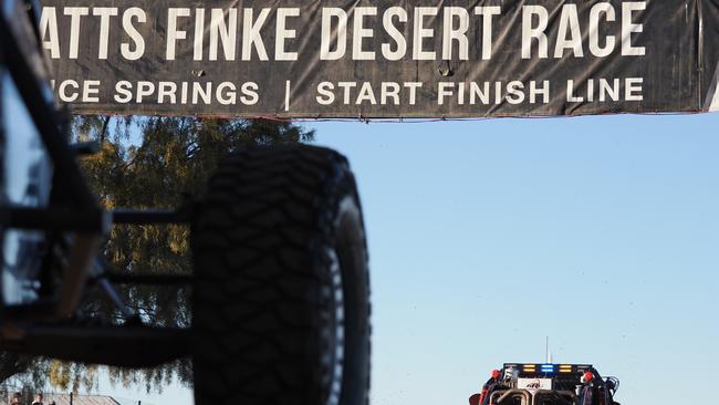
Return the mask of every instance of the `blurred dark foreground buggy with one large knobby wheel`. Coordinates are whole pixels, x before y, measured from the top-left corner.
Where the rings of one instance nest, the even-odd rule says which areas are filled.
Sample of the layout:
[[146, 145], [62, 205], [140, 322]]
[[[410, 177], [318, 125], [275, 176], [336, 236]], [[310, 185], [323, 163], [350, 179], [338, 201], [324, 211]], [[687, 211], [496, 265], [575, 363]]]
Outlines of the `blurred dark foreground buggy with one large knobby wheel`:
[[[367, 251], [347, 160], [250, 148], [177, 210], [104, 210], [76, 163], [93, 145], [70, 144], [53, 103], [38, 10], [0, 0], [0, 350], [131, 367], [190, 355], [198, 404], [366, 404]], [[191, 229], [192, 277], [100, 264], [113, 225], [176, 222]], [[144, 324], [117, 283], [189, 283], [191, 328]], [[77, 311], [91, 287], [124, 323]]]

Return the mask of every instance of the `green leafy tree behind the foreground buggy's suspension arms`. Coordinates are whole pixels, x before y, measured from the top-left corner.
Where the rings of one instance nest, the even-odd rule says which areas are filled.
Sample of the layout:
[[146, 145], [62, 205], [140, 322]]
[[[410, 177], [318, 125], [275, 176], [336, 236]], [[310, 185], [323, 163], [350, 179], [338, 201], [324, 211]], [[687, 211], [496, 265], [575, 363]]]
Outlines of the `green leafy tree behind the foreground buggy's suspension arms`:
[[[218, 162], [250, 145], [310, 142], [312, 131], [280, 121], [198, 117], [111, 118], [75, 116], [75, 141], [96, 141], [98, 153], [81, 160], [100, 204], [113, 208], [166, 208], [199, 196]], [[108, 271], [126, 274], [189, 274], [189, 229], [184, 225], [115, 226], [104, 249]], [[184, 288], [118, 285], [128, 307], [148, 323], [187, 326], [188, 291]], [[82, 308], [86, 316], [122, 323], [123, 316], [100, 291]], [[44, 367], [49, 382], [62, 390], [90, 388], [96, 367], [34, 360], [25, 370]], [[22, 367], [18, 367], [22, 368]], [[148, 390], [179, 380], [191, 383], [188, 360], [153, 370], [110, 368], [122, 384], [144, 382]], [[2, 375], [0, 375], [2, 377]]]

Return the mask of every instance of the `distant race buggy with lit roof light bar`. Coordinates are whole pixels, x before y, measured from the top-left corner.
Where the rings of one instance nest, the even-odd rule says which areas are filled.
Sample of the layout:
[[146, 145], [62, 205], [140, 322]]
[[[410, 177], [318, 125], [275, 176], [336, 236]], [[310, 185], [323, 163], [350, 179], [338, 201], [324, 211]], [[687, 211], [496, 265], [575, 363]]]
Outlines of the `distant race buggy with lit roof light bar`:
[[616, 377], [602, 377], [591, 364], [506, 363], [492, 371], [470, 405], [619, 405]]

